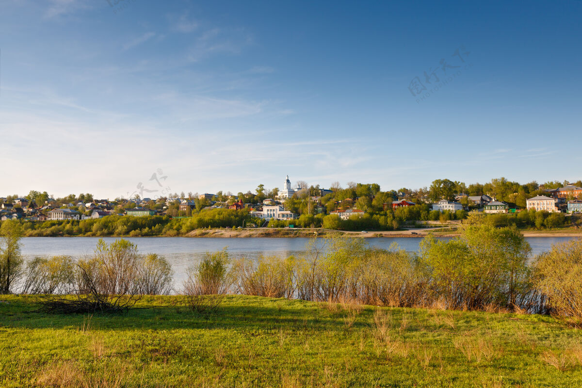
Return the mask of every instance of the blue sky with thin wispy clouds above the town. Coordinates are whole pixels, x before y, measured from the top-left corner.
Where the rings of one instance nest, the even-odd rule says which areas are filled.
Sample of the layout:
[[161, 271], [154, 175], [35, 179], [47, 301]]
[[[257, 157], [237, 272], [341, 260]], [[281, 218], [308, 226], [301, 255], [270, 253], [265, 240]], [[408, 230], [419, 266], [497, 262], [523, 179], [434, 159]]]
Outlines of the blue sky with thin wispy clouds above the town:
[[111, 3], [3, 0], [0, 195], [582, 178], [582, 1]]

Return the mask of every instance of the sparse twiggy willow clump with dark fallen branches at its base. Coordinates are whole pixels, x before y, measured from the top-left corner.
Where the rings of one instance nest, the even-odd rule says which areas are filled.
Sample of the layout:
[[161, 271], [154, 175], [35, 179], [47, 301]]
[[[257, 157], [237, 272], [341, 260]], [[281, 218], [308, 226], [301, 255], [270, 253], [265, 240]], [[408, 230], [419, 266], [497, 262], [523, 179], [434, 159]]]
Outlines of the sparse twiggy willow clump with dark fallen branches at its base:
[[43, 312], [119, 312], [133, 307], [144, 294], [168, 291], [169, 263], [158, 255], [141, 255], [127, 240], [100, 239], [93, 255], [37, 258], [27, 265], [27, 293], [41, 297]]

